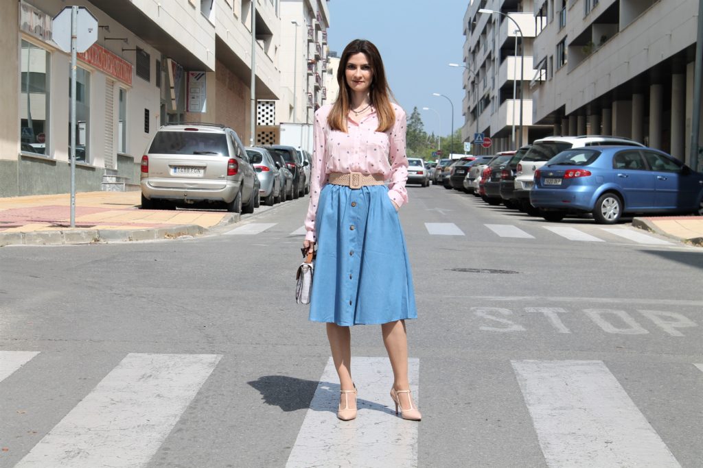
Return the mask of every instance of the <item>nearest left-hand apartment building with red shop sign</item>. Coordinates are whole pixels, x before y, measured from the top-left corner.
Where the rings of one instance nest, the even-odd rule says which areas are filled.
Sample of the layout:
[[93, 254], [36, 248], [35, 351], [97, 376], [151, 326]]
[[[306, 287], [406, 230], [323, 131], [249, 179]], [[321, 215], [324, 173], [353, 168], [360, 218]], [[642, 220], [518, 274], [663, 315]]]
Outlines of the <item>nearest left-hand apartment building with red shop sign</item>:
[[[141, 154], [163, 123], [224, 123], [249, 142], [252, 42], [256, 98], [280, 98], [279, 0], [74, 4], [98, 20], [96, 43], [77, 60], [79, 191], [138, 182]], [[66, 5], [0, 2], [0, 196], [70, 189], [70, 54], [52, 40], [52, 18]]]

